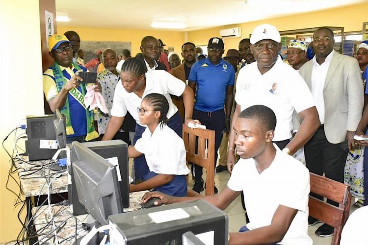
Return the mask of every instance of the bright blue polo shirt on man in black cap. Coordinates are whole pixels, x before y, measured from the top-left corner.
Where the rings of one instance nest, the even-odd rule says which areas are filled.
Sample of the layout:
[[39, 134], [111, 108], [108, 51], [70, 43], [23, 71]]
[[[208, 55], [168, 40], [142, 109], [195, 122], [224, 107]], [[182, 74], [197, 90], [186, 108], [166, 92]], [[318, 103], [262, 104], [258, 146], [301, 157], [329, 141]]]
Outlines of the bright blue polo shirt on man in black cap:
[[221, 59], [213, 65], [209, 58], [199, 60], [190, 69], [189, 81], [196, 83], [194, 109], [213, 112], [224, 109], [226, 88], [234, 86], [233, 66]]

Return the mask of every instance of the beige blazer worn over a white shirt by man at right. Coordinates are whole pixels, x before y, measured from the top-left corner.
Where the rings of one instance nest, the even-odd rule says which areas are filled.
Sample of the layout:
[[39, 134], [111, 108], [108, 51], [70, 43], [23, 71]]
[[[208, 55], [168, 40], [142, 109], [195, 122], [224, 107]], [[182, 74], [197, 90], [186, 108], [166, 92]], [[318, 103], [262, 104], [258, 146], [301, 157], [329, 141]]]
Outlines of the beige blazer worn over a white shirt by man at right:
[[[313, 60], [299, 70], [309, 89], [312, 88]], [[345, 140], [346, 131], [355, 131], [362, 117], [364, 91], [358, 61], [335, 52], [323, 87], [324, 130], [328, 142]]]

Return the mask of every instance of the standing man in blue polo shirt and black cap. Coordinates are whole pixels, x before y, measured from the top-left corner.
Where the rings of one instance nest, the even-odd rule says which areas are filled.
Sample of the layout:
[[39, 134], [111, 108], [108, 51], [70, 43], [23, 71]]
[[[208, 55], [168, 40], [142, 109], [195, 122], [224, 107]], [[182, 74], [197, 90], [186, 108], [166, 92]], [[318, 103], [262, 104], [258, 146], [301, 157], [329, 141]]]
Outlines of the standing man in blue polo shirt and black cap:
[[[216, 163], [222, 132], [230, 131], [235, 71], [233, 66], [221, 57], [224, 53], [224, 43], [220, 38], [211, 38], [207, 49], [208, 57], [199, 60], [190, 69], [188, 85], [195, 94], [193, 119], [215, 131]], [[195, 165], [193, 175], [193, 190], [199, 193], [203, 191], [202, 167]], [[214, 191], [217, 193], [216, 187]]]

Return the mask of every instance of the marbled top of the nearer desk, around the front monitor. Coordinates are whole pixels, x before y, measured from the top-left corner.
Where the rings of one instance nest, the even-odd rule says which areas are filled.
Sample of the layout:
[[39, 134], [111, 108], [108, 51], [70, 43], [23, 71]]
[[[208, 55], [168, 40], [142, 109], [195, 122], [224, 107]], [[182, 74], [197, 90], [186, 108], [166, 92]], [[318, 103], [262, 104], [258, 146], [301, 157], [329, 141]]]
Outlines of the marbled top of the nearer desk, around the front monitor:
[[[124, 208], [124, 212], [131, 212], [140, 209], [140, 200], [146, 192], [147, 191], [131, 193], [129, 196], [130, 207]], [[88, 215], [73, 216], [69, 206], [59, 205], [52, 207], [52, 213], [54, 214], [55, 227], [58, 225], [62, 227], [57, 232], [59, 244], [67, 245], [74, 243], [76, 232], [76, 219], [77, 238], [82, 237], [88, 233], [82, 228], [82, 223], [86, 222]], [[48, 235], [52, 231], [52, 226], [50, 223], [51, 217], [48, 206], [45, 205], [41, 207], [34, 207], [32, 208], [32, 214], [34, 216], [34, 224], [37, 231], [38, 239], [39, 241], [41, 239], [41, 244], [55, 244], [54, 233], [52, 233], [52, 235]], [[76, 219], [71, 217], [76, 217]], [[65, 222], [65, 224], [63, 224], [65, 220], [67, 221]], [[60, 243], [62, 240], [64, 241]]]

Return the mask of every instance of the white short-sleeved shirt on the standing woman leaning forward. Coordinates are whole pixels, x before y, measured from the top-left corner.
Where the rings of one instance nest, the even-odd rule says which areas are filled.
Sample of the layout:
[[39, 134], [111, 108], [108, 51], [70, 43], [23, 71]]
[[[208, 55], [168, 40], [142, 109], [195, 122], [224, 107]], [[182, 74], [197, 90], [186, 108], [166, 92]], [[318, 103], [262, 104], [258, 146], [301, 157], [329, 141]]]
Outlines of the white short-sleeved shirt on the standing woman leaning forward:
[[[170, 119], [177, 111], [178, 108], [171, 100], [170, 94], [175, 96], [181, 96], [185, 89], [185, 83], [176, 78], [175, 76], [161, 70], [152, 70], [145, 73], [146, 76], [146, 88], [143, 92], [142, 98], [146, 95], [158, 93], [167, 99], [169, 102], [169, 111], [167, 112], [167, 118]], [[139, 123], [137, 107], [140, 107], [142, 98], [139, 98], [134, 93], [128, 93], [121, 82], [118, 82], [115, 88], [114, 102], [112, 104], [111, 115], [115, 117], [124, 117], [127, 111], [134, 118], [135, 122], [141, 126], [145, 126]]]

